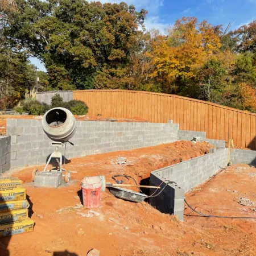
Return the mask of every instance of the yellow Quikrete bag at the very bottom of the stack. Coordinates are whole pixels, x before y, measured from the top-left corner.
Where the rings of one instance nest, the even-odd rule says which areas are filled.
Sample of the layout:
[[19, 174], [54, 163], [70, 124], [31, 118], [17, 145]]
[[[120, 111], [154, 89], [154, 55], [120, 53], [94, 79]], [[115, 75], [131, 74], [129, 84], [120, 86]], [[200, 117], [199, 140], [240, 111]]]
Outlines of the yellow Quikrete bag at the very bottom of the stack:
[[0, 237], [13, 236], [15, 234], [22, 234], [32, 232], [34, 230], [34, 221], [31, 218], [23, 221], [15, 221], [8, 224], [0, 224]]

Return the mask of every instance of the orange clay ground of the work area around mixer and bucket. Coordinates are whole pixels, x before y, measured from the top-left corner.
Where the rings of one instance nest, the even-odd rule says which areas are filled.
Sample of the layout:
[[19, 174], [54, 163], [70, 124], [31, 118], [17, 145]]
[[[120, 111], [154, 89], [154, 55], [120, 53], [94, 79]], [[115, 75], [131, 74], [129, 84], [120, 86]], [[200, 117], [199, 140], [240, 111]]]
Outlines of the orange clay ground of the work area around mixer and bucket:
[[[90, 217], [89, 209], [81, 207], [84, 176], [105, 175], [113, 181], [113, 175], [127, 174], [139, 182], [153, 170], [206, 154], [209, 148], [206, 142], [181, 141], [71, 159], [65, 166], [72, 171], [71, 184], [57, 189], [34, 188], [34, 167], [8, 171], [5, 176], [24, 181], [35, 227], [32, 233], [1, 238], [0, 255], [85, 256], [92, 248], [100, 250], [101, 256], [255, 255], [256, 220], [193, 217], [197, 214], [185, 207], [185, 214], [191, 216], [180, 222], [148, 203], [117, 199], [108, 189], [102, 192], [101, 207], [93, 209]], [[127, 164], [118, 164], [118, 156], [127, 158]], [[185, 199], [207, 214], [256, 217], [255, 185], [256, 169], [237, 164], [220, 170]], [[242, 205], [240, 197], [252, 203]]]

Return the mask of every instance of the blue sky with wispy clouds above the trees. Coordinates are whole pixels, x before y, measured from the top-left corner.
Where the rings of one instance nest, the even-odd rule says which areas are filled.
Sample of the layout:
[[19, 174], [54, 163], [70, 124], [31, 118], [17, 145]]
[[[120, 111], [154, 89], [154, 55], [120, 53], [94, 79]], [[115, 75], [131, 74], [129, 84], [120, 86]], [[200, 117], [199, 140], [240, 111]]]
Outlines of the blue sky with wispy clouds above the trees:
[[[100, 0], [100, 2], [122, 1]], [[256, 0], [123, 0], [123, 2], [134, 5], [137, 10], [146, 9], [148, 11], [146, 28], [158, 28], [161, 32], [183, 16], [196, 16], [199, 21], [206, 19], [209, 23], [223, 24], [224, 27], [229, 22], [234, 22], [231, 29], [256, 19]], [[39, 70], [46, 71], [39, 60], [32, 58], [31, 62]]]

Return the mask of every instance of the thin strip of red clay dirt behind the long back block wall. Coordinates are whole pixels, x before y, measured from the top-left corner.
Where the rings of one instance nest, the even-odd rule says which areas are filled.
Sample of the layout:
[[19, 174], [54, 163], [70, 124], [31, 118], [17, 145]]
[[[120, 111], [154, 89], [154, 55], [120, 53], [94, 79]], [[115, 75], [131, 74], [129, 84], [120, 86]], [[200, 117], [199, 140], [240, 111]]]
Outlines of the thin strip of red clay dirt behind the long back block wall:
[[[80, 121], [110, 121], [110, 122], [148, 122], [139, 117], [126, 118], [107, 118], [102, 115], [74, 115], [76, 120]], [[40, 115], [0, 115], [0, 135], [6, 134], [6, 119], [42, 119]]]

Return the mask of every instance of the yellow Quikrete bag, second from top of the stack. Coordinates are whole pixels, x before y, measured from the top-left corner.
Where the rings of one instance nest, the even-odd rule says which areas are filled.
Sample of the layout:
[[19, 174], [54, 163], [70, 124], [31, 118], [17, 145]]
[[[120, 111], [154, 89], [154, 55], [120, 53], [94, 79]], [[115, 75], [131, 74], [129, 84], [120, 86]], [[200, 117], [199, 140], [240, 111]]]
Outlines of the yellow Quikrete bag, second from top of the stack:
[[22, 185], [3, 186], [0, 187], [0, 202], [1, 201], [17, 201], [26, 199], [26, 188]]

